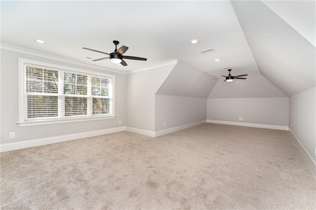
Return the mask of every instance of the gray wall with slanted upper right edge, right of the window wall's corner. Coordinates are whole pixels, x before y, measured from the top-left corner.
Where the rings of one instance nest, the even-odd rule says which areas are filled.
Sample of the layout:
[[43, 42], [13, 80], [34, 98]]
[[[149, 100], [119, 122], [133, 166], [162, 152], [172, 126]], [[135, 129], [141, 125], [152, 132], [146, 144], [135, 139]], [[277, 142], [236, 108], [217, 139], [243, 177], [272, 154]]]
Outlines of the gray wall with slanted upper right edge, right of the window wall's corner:
[[126, 75], [126, 126], [155, 131], [155, 93], [174, 66]]

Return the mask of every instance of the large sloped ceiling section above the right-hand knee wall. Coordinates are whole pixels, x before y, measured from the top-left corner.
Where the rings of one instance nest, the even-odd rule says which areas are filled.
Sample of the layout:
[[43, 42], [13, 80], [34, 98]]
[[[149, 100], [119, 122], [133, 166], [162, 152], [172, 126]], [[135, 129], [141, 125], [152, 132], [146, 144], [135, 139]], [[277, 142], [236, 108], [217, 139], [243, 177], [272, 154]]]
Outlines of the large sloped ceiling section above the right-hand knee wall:
[[261, 1], [232, 1], [232, 5], [265, 78], [287, 96], [316, 86], [316, 48], [311, 42]]

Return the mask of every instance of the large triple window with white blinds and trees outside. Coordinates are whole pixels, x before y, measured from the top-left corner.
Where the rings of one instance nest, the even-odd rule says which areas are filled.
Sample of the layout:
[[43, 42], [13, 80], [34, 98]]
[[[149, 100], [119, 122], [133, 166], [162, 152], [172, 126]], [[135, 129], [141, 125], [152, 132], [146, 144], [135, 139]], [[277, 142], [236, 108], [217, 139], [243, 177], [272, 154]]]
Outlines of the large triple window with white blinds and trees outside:
[[114, 75], [20, 59], [20, 125], [114, 118]]

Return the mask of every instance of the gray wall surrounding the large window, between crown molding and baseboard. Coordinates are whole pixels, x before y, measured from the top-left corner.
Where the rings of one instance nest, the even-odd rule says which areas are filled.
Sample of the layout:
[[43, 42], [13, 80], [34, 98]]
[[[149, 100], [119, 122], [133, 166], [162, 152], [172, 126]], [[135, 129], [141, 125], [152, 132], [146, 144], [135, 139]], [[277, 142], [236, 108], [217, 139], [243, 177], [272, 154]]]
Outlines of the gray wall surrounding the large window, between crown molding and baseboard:
[[[20, 127], [17, 124], [19, 58], [115, 75], [115, 119]], [[1, 49], [1, 144], [125, 126], [125, 90], [125, 74]], [[122, 124], [118, 125], [118, 121], [122, 121]], [[15, 132], [15, 138], [9, 139], [9, 132]]]

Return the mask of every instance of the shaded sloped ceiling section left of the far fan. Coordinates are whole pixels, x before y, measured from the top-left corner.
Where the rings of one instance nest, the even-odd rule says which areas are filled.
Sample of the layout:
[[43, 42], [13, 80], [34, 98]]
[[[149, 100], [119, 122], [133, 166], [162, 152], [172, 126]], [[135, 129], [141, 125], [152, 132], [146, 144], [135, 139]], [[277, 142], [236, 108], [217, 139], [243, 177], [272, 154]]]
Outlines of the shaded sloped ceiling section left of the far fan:
[[178, 61], [156, 94], [207, 98], [217, 80], [215, 76]]

